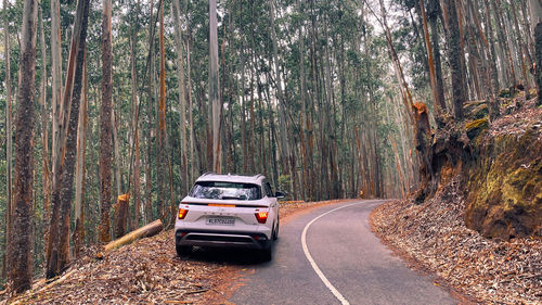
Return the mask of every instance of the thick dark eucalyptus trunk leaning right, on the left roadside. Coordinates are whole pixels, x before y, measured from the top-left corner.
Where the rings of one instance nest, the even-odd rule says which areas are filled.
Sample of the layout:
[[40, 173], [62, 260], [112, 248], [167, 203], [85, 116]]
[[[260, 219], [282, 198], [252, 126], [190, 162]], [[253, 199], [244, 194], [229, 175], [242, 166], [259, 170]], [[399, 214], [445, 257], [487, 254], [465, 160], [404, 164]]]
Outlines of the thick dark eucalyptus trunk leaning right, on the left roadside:
[[[79, 122], [89, 2], [89, 0], [79, 0], [77, 2], [73, 27], [66, 86], [61, 107], [63, 111], [69, 110], [69, 112], [63, 113], [63, 120], [61, 122], [63, 129], [60, 132], [59, 144], [64, 152], [64, 158], [57, 174], [60, 177], [57, 177], [52, 192], [52, 214], [49, 231], [50, 253], [47, 257], [47, 278], [60, 275], [69, 264], [70, 204], [74, 192], [77, 126]], [[68, 92], [72, 92], [72, 94]]]

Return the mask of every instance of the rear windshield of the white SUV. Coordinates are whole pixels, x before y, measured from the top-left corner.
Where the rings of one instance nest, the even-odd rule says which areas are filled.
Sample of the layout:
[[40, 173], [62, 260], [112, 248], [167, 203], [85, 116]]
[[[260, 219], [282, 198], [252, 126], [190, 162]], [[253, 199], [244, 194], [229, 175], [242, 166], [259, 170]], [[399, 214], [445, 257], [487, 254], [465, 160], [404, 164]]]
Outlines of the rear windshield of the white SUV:
[[201, 181], [192, 188], [190, 195], [201, 199], [260, 200], [260, 187], [253, 183]]

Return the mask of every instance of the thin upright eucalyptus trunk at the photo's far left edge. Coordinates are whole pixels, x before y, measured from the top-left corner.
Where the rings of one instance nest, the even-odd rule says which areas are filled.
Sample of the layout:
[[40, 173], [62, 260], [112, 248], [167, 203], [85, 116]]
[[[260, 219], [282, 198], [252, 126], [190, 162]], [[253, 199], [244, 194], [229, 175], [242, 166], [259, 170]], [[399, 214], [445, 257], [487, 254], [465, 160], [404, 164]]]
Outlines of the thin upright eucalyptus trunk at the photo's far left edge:
[[11, 215], [13, 207], [13, 127], [12, 127], [12, 90], [11, 90], [11, 60], [10, 60], [10, 22], [8, 20], [8, 0], [3, 1], [4, 17], [4, 59], [5, 59], [5, 250], [2, 259], [3, 275], [10, 271], [10, 239], [11, 239]]

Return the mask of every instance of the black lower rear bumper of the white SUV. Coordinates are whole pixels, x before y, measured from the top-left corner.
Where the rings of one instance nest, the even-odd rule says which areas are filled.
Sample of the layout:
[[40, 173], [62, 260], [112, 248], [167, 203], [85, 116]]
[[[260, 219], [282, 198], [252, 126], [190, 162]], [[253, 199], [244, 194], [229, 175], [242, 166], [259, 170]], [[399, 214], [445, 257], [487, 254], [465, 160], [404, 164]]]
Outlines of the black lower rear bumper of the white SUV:
[[176, 244], [214, 247], [269, 249], [271, 240], [261, 232], [183, 230], [175, 232]]

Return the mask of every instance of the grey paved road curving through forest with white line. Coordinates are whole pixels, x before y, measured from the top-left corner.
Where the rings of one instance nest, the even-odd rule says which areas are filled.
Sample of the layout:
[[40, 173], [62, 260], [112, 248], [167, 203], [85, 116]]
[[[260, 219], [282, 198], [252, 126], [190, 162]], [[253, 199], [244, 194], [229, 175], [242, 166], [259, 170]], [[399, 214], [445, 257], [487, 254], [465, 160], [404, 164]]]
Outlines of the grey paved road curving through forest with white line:
[[273, 260], [248, 265], [244, 285], [230, 301], [235, 304], [457, 304], [448, 292], [435, 287], [431, 278], [406, 268], [371, 232], [369, 214], [382, 203], [357, 201], [323, 206], [282, 224]]

